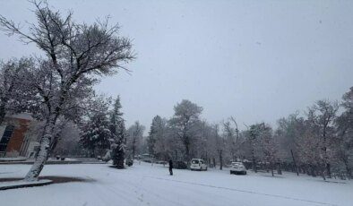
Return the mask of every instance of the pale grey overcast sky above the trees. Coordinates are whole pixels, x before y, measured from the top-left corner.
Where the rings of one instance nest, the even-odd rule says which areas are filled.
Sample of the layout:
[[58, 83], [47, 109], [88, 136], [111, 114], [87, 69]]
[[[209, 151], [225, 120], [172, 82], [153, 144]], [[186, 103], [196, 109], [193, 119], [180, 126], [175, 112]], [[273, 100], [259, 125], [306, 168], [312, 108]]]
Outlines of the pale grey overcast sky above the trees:
[[[147, 129], [190, 99], [219, 123], [277, 119], [353, 86], [353, 1], [48, 1], [76, 21], [109, 15], [137, 59], [97, 90], [120, 95], [127, 124]], [[13, 21], [35, 21], [27, 1], [0, 0]], [[0, 34], [0, 58], [38, 54]]]

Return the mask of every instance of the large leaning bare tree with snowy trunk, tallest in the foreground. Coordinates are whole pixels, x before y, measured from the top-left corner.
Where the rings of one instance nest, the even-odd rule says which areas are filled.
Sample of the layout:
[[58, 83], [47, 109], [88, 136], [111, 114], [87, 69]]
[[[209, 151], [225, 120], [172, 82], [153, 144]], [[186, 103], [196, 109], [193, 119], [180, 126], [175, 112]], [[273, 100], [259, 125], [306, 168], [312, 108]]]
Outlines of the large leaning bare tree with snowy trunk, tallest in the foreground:
[[[106, 21], [92, 25], [73, 21], [73, 13], [62, 15], [46, 3], [33, 2], [37, 24], [29, 31], [0, 16], [0, 28], [17, 35], [25, 43], [34, 43], [46, 58], [39, 58], [36, 68], [28, 75], [40, 96], [40, 110], [45, 129], [40, 137], [38, 156], [25, 179], [35, 181], [47, 161], [53, 131], [59, 116], [71, 114], [80, 107], [82, 94], [91, 90], [99, 75], [112, 74], [123, 63], [133, 60], [129, 39], [118, 37], [119, 27]], [[116, 69], [115, 69], [116, 68]]]

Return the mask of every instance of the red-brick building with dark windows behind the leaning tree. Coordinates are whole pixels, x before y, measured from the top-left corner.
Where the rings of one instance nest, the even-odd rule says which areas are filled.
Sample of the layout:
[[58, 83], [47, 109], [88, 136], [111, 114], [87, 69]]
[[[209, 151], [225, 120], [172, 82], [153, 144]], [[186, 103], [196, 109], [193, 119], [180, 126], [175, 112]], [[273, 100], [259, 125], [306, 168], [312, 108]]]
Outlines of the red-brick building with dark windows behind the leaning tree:
[[30, 126], [36, 121], [30, 114], [5, 116], [0, 125], [0, 157], [32, 157], [39, 147], [36, 137], [31, 135]]

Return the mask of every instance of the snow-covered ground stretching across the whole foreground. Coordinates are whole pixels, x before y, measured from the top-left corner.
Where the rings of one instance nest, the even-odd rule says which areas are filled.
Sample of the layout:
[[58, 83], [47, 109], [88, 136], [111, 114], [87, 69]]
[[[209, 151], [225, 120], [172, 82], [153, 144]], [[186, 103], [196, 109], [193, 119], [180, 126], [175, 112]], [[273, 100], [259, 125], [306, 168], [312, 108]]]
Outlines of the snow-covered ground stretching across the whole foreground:
[[[22, 177], [29, 165], [0, 166], [1, 177]], [[228, 170], [196, 172], [135, 163], [118, 170], [108, 165], [47, 165], [42, 176], [77, 176], [89, 182], [45, 185], [0, 191], [6, 206], [129, 205], [347, 205], [353, 203], [353, 182], [285, 174], [229, 175]]]

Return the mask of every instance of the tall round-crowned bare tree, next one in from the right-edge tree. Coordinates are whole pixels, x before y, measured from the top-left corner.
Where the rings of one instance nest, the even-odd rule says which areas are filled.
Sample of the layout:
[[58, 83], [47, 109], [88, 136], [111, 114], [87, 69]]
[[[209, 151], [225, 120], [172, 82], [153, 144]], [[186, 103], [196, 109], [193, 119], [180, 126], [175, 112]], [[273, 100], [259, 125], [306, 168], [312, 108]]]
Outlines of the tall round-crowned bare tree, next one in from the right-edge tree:
[[333, 121], [337, 113], [337, 103], [326, 100], [317, 101], [306, 113], [305, 133], [297, 139], [300, 160], [307, 172], [316, 176], [331, 177], [331, 160], [334, 156], [335, 129]]

